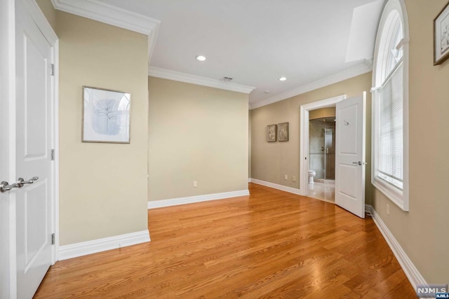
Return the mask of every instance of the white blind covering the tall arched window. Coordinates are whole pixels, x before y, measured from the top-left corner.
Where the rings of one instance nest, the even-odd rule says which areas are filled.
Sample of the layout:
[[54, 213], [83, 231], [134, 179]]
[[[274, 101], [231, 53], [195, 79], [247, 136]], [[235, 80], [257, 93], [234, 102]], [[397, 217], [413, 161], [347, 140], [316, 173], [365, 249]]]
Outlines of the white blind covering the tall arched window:
[[403, 189], [403, 66], [387, 77], [380, 92], [376, 176]]

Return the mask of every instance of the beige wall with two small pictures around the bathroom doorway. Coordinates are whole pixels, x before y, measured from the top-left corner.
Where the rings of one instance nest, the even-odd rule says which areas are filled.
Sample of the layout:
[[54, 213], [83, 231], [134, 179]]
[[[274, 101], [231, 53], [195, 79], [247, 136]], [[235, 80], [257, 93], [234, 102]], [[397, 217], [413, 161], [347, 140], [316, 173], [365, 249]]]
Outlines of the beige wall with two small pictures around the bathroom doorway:
[[[363, 74], [311, 92], [297, 95], [281, 102], [262, 106], [251, 111], [251, 176], [270, 183], [300, 188], [300, 106], [338, 95], [354, 97], [367, 91], [366, 160], [370, 161], [371, 141], [371, 73]], [[289, 141], [267, 142], [267, 125], [289, 124]], [[288, 180], [284, 180], [284, 174]], [[292, 176], [297, 176], [295, 182]], [[370, 163], [366, 167], [366, 203], [371, 200]]]

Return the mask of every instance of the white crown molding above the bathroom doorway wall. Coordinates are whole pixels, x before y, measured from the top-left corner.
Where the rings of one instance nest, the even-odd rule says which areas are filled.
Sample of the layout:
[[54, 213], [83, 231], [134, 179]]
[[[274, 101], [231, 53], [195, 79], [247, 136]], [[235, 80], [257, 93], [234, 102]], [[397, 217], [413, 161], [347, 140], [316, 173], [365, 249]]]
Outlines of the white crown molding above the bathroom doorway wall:
[[333, 74], [326, 78], [322, 78], [320, 80], [311, 82], [306, 85], [302, 85], [299, 88], [295, 88], [293, 90], [288, 90], [286, 92], [282, 92], [279, 95], [274, 95], [273, 97], [269, 97], [267, 99], [262, 99], [260, 102], [252, 103], [250, 109], [256, 109], [262, 106], [267, 106], [269, 104], [273, 104], [283, 99], [288, 99], [290, 97], [295, 97], [297, 95], [302, 95], [303, 93], [317, 90], [319, 88], [323, 88], [325, 86], [347, 80], [349, 78], [353, 78], [356, 76], [360, 76], [362, 74], [366, 74], [369, 71], [373, 70], [373, 64], [370, 60], [363, 60], [361, 64], [358, 64], [356, 67], [352, 67], [351, 69], [346, 69], [344, 71], [340, 71], [337, 74]]

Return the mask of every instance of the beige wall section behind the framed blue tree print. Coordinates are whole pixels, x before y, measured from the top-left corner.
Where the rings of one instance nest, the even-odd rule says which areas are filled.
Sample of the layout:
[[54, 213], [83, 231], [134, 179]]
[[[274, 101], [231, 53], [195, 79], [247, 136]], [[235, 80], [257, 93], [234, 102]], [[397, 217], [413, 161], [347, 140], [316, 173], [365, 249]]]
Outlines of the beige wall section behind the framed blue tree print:
[[[60, 244], [147, 230], [147, 36], [56, 12]], [[130, 144], [81, 142], [83, 85], [131, 93]]]

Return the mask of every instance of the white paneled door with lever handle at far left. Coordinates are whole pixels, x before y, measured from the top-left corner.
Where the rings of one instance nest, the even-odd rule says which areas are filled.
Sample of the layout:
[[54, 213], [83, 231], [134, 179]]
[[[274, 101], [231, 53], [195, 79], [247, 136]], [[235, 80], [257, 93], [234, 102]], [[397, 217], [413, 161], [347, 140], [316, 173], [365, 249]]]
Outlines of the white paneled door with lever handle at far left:
[[17, 296], [32, 298], [52, 262], [52, 47], [15, 1]]

